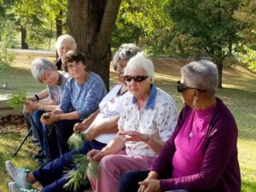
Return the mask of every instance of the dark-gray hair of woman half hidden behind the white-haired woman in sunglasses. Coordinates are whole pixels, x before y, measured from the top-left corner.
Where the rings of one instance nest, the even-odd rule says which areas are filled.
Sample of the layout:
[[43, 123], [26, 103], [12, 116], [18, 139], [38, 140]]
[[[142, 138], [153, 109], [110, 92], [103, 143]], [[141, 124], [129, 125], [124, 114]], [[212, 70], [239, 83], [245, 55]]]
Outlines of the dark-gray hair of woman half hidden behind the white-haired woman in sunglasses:
[[113, 55], [113, 69], [116, 71], [120, 60], [130, 60], [131, 57], [142, 51], [136, 44], [121, 44], [118, 51]]

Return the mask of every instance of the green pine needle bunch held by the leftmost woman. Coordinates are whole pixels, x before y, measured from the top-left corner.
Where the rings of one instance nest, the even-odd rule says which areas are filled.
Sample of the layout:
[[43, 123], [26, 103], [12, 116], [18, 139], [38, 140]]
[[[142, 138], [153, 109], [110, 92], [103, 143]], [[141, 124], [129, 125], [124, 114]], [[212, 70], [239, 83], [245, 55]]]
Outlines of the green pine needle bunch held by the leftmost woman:
[[24, 102], [26, 101], [26, 91], [16, 90], [15, 93], [10, 96], [8, 104], [14, 109], [23, 108]]

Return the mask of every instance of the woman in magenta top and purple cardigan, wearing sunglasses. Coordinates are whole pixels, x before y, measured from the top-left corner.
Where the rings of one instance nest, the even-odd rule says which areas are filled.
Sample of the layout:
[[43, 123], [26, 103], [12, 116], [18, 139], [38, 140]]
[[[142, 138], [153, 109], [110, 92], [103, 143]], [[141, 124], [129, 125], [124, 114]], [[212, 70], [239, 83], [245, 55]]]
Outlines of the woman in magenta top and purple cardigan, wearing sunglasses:
[[194, 61], [181, 70], [177, 91], [183, 104], [175, 131], [151, 171], [126, 172], [119, 191], [239, 192], [237, 126], [216, 96], [218, 70]]

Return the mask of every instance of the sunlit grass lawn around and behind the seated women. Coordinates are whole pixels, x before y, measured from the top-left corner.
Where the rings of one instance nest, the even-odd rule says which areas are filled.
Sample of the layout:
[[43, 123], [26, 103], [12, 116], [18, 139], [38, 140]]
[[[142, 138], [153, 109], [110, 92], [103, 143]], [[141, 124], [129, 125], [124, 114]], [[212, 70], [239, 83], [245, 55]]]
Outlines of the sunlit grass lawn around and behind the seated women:
[[[176, 90], [179, 79], [179, 70], [183, 62], [154, 60], [155, 84], [172, 95], [177, 102], [177, 108], [182, 108], [180, 95]], [[170, 64], [171, 63], [171, 64]], [[3, 75], [0, 73], [0, 84]], [[115, 78], [111, 72], [113, 85]], [[217, 96], [224, 100], [236, 118], [239, 127], [238, 153], [241, 166], [242, 192], [251, 192], [256, 189], [256, 75], [248, 73], [246, 69], [236, 66], [224, 70], [224, 89], [217, 91]], [[27, 92], [37, 92], [44, 85], [36, 83], [27, 69], [14, 68], [9, 72], [10, 87], [23, 87]], [[0, 94], [12, 90], [0, 90]], [[31, 154], [35, 150], [32, 143], [27, 143], [15, 157], [11, 152], [20, 144], [26, 134], [24, 129], [13, 127], [8, 131], [0, 127], [0, 191], [8, 191], [10, 179], [4, 172], [4, 161], [12, 160], [17, 166], [36, 167]]]

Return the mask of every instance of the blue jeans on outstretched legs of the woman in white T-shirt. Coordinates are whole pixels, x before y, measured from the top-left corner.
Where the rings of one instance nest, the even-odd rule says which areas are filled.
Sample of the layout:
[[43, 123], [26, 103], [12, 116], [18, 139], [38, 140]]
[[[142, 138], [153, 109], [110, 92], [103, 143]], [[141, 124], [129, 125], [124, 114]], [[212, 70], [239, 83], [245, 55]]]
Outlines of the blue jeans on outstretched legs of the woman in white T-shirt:
[[[105, 143], [97, 142], [96, 140], [85, 141], [83, 147], [79, 150], [72, 150], [61, 157], [41, 166], [38, 170], [32, 172], [44, 188], [41, 192], [71, 192], [72, 189], [63, 189], [63, 185], [67, 183], [67, 175], [63, 171], [73, 169], [73, 156], [76, 154], [87, 154], [91, 149], [101, 150], [106, 146]], [[85, 158], [85, 157], [84, 157]], [[84, 191], [84, 188], [78, 189], [77, 192]]]

